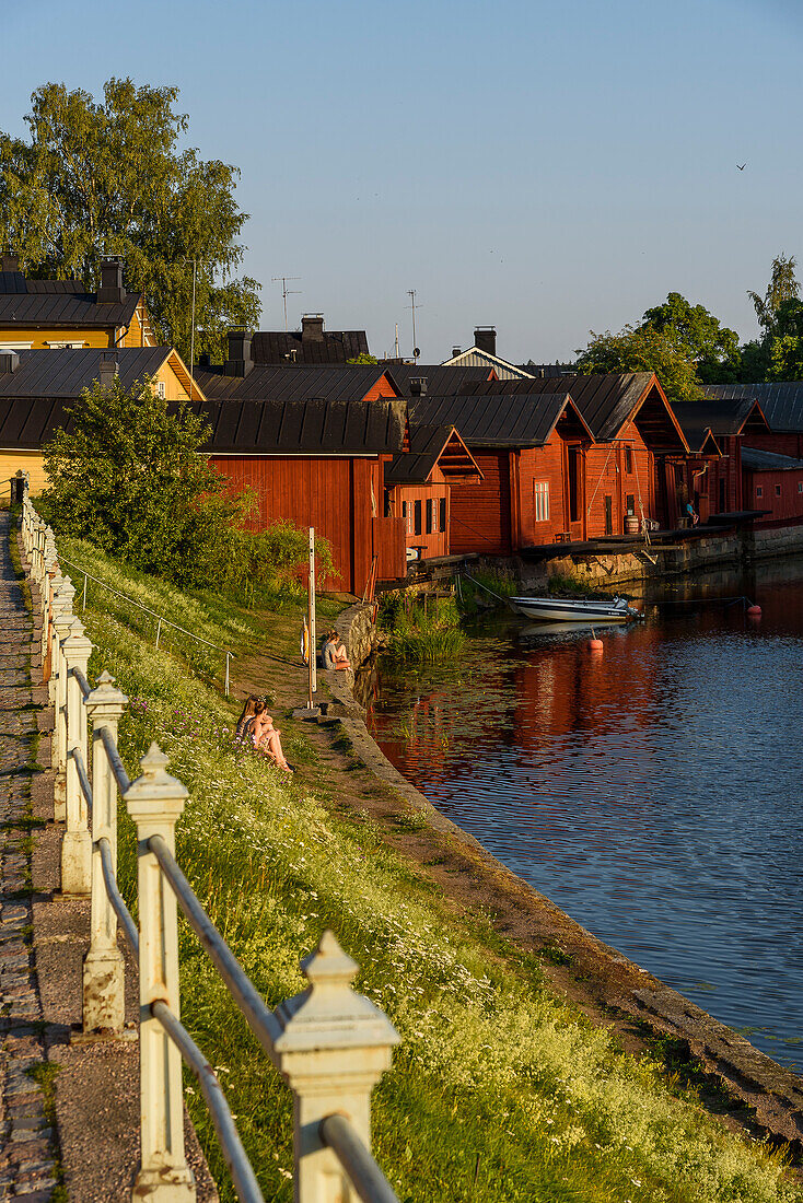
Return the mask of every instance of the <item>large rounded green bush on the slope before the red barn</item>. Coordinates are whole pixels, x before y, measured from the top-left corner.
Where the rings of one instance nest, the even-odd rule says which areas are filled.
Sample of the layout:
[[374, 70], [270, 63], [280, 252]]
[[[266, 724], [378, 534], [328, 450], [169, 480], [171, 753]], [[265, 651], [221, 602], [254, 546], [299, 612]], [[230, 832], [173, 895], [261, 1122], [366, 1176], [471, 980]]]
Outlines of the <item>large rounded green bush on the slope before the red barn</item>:
[[[179, 586], [254, 588], [306, 563], [307, 537], [291, 523], [244, 529], [253, 508], [234, 496], [203, 455], [211, 434], [187, 405], [160, 398], [149, 380], [124, 389], [98, 381], [70, 411], [69, 429], [45, 446], [46, 503], [59, 532], [87, 539]], [[331, 550], [318, 543], [321, 579]]]

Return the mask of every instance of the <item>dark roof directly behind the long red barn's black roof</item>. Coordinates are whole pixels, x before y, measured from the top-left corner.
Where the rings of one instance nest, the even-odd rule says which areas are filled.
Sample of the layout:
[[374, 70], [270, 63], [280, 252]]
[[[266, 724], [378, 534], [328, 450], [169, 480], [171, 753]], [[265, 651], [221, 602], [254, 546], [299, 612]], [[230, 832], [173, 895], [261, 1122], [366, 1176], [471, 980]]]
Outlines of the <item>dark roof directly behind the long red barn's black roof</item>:
[[[379, 367], [273, 367], [258, 363], [246, 377], [228, 377], [223, 368], [196, 368], [195, 380], [218, 401], [361, 401], [385, 374]], [[391, 381], [391, 386], [396, 387]], [[400, 390], [396, 389], [398, 392]]]

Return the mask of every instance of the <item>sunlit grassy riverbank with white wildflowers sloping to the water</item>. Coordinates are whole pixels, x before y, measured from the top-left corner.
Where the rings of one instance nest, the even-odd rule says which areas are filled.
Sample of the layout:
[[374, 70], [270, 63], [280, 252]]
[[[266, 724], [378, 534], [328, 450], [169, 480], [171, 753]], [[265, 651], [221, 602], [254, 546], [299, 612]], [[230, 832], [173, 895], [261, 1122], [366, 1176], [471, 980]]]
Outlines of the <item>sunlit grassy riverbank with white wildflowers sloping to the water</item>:
[[[69, 559], [171, 617], [215, 647], [248, 654], [270, 638], [289, 656], [293, 606], [240, 612], [213, 597], [134, 579], [85, 545]], [[81, 588], [81, 577], [73, 573]], [[338, 807], [303, 733], [282, 721], [288, 781], [231, 747], [235, 707], [211, 685], [223, 660], [89, 589], [85, 620], [107, 668], [131, 698], [120, 729], [129, 771], [157, 739], [190, 790], [178, 858], [271, 1006], [302, 988], [297, 968], [325, 926], [362, 966], [359, 989], [403, 1037], [374, 1095], [374, 1148], [400, 1199], [572, 1203], [802, 1201], [768, 1149], [731, 1136], [649, 1059], [620, 1053], [544, 985], [539, 962], [482, 915], [449, 900], [394, 853], [365, 813]], [[164, 635], [163, 635], [164, 638]], [[172, 642], [171, 642], [172, 640]], [[270, 691], [271, 682], [265, 682]], [[402, 816], [403, 817], [403, 816]], [[418, 816], [409, 822], [420, 823]], [[120, 877], [132, 899], [134, 832], [120, 829]], [[182, 1013], [225, 1083], [265, 1197], [284, 1203], [290, 1096], [185, 929]], [[234, 1198], [206, 1110], [188, 1104], [222, 1197]]]

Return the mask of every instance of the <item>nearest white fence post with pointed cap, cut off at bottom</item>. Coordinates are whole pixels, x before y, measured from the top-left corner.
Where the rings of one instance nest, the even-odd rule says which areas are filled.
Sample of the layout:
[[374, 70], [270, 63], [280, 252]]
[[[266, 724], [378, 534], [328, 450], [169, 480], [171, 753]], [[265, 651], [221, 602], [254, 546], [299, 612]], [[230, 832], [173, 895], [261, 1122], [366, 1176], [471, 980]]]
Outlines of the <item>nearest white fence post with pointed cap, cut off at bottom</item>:
[[352, 1189], [321, 1143], [320, 1121], [346, 1115], [371, 1148], [371, 1091], [400, 1038], [388, 1017], [352, 989], [359, 965], [331, 931], [301, 968], [309, 988], [276, 1009], [282, 1035], [274, 1060], [293, 1090], [295, 1201], [329, 1203], [350, 1199]]

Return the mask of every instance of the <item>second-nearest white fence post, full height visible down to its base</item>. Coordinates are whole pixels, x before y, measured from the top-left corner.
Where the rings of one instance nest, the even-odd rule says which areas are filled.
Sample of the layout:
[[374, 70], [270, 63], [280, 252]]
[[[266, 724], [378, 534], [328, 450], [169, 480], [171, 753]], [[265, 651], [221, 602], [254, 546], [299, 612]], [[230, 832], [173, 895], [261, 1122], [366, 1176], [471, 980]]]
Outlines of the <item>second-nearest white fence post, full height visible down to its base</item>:
[[176, 896], [148, 849], [154, 835], [176, 847], [176, 822], [187, 790], [165, 772], [167, 757], [155, 743], [140, 760], [142, 776], [125, 792], [137, 831], [140, 899], [140, 1132], [141, 1162], [134, 1199], [191, 1203], [195, 1180], [184, 1157], [181, 1054], [150, 1006], [163, 1000], [178, 1018], [178, 923]]

